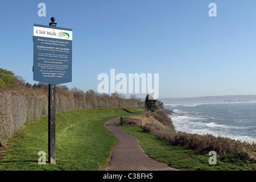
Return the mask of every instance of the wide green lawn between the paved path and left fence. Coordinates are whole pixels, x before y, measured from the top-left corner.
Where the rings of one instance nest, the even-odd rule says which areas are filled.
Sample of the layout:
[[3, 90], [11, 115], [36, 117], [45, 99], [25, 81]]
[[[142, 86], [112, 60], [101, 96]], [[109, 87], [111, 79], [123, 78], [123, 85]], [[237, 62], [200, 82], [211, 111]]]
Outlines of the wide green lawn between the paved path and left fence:
[[[48, 116], [27, 122], [0, 148], [0, 170], [76, 170], [104, 168], [117, 139], [104, 122], [120, 115], [142, 112], [138, 107], [73, 110], [56, 113], [56, 164], [48, 163]], [[39, 151], [46, 152], [39, 165]]]

